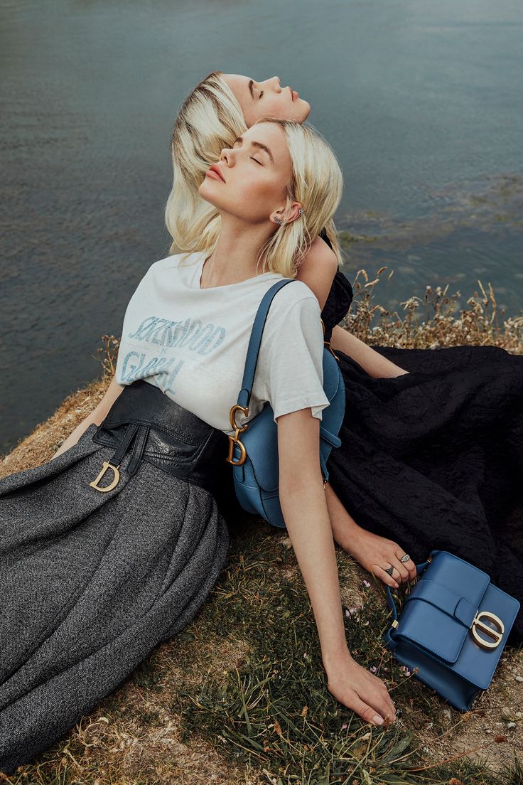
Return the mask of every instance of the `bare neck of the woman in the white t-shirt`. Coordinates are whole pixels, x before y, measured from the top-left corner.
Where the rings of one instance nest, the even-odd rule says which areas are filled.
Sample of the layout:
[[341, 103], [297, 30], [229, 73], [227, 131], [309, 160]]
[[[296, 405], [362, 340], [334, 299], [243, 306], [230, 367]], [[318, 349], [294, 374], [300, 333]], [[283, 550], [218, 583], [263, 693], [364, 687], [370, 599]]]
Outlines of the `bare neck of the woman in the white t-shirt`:
[[240, 283], [263, 272], [256, 263], [260, 249], [271, 236], [267, 223], [245, 224], [224, 217], [216, 248], [205, 261], [202, 273], [204, 287], [221, 287]]

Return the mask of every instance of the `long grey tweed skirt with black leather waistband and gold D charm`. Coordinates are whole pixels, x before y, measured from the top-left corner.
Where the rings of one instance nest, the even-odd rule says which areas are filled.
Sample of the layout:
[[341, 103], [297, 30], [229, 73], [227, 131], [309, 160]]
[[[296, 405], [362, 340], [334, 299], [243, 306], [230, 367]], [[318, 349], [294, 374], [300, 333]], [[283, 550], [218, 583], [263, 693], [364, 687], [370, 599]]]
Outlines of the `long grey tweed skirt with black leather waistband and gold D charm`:
[[0, 771], [197, 615], [227, 563], [226, 455], [225, 434], [140, 380], [73, 447], [0, 479]]

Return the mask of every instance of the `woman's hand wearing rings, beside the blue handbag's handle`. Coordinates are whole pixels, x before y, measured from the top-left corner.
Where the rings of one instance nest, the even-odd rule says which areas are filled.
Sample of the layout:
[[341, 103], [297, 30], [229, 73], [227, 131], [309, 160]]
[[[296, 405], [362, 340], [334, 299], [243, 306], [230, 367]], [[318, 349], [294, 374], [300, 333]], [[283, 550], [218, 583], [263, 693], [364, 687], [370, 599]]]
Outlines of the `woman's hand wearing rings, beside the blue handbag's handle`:
[[[361, 567], [376, 575], [388, 586], [397, 588], [400, 583], [416, 578], [416, 564], [412, 559], [400, 561], [405, 551], [398, 542], [372, 534], [372, 531], [367, 531], [361, 526], [350, 529], [345, 550], [354, 556]], [[385, 571], [390, 564], [394, 567], [392, 577]]]

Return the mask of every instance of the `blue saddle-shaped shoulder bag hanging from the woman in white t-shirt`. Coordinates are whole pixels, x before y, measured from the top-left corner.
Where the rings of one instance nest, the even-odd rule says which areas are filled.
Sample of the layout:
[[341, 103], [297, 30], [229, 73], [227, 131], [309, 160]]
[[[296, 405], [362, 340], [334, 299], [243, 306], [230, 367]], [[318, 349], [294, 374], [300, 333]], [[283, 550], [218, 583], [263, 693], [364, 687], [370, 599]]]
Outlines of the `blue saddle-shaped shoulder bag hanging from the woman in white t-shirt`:
[[[273, 409], [270, 403], [265, 403], [262, 411], [242, 426], [237, 424], [235, 418], [238, 411], [249, 417], [249, 400], [267, 312], [274, 295], [293, 280], [296, 279], [288, 278], [274, 283], [264, 294], [256, 312], [249, 338], [242, 389], [238, 395], [238, 403], [235, 403], [229, 412], [234, 436], [229, 435], [229, 455], [226, 458], [233, 466], [234, 491], [242, 508], [249, 513], [260, 515], [278, 528], [285, 528], [285, 520], [278, 495], [278, 424], [274, 422]], [[320, 465], [324, 486], [329, 481], [327, 459], [330, 451], [332, 447], [340, 447], [341, 444], [338, 433], [345, 413], [345, 385], [336, 359], [328, 341], [324, 341], [323, 389], [329, 399], [329, 406], [321, 411], [320, 422]], [[238, 438], [240, 433], [241, 440]]]

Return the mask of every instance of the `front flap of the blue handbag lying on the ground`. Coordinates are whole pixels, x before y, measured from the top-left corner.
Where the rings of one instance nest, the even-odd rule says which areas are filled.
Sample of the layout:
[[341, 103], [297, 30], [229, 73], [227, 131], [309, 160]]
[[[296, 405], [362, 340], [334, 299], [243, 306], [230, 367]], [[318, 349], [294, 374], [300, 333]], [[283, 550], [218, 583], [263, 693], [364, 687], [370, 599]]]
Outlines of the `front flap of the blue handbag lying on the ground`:
[[455, 663], [489, 582], [486, 572], [439, 551], [405, 598], [394, 637]]

